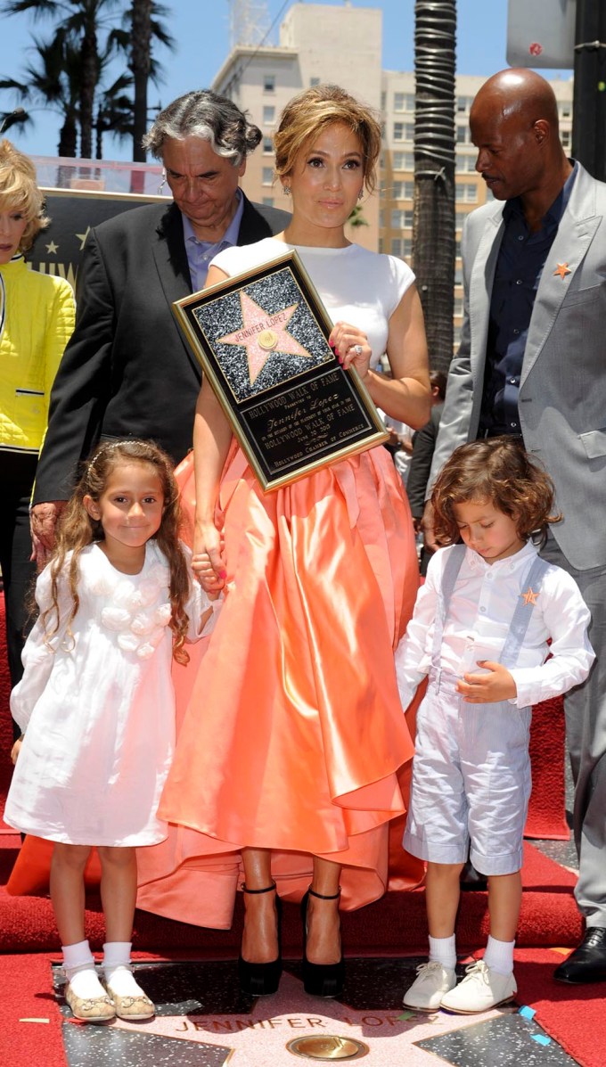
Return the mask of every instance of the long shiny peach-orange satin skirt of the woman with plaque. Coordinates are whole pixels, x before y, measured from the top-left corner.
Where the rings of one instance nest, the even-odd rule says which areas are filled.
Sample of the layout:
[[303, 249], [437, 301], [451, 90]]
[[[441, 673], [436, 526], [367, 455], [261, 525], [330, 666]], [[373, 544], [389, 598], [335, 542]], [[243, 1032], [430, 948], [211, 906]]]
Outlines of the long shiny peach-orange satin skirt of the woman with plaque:
[[[191, 457], [177, 477], [192, 513]], [[408, 501], [382, 447], [264, 494], [234, 443], [219, 514], [225, 604], [175, 671], [187, 710], [159, 809], [172, 826], [138, 850], [138, 906], [227, 928], [251, 846], [272, 850], [292, 901], [313, 855], [341, 863], [341, 906], [361, 907], [386, 888], [413, 755], [393, 657], [418, 588]], [[393, 851], [397, 886], [418, 883], [422, 865]]]

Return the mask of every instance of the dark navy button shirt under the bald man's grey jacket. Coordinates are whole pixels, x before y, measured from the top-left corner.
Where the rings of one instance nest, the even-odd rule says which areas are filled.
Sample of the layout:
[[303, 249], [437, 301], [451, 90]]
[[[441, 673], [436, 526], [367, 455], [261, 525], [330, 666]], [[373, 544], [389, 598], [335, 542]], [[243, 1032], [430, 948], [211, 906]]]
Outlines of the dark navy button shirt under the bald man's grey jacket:
[[517, 396], [530, 316], [545, 260], [567, 209], [578, 166], [531, 233], [519, 196], [503, 209], [505, 233], [493, 283], [478, 436], [521, 433]]

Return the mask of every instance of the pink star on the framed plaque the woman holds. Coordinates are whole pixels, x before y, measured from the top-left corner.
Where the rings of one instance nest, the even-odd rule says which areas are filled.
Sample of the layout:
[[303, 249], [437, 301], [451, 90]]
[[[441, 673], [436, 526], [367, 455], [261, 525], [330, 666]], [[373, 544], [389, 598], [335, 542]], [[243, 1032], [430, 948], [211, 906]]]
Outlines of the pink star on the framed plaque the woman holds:
[[242, 291], [240, 292], [240, 306], [243, 323], [241, 330], [235, 330], [234, 333], [225, 334], [224, 337], [218, 337], [218, 341], [221, 345], [239, 345], [246, 349], [251, 385], [254, 385], [273, 352], [309, 357], [307, 349], [303, 348], [292, 334], [286, 331], [286, 327], [299, 304], [291, 304], [290, 307], [283, 307], [274, 315], [269, 315]]

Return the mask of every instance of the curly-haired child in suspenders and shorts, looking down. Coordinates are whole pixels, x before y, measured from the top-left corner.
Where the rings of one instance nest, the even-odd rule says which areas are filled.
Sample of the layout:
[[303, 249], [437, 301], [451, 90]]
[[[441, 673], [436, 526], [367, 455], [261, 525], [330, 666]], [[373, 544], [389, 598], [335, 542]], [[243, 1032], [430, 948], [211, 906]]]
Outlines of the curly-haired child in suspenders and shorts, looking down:
[[[451, 546], [431, 559], [396, 652], [404, 707], [429, 674], [404, 834], [404, 847], [428, 864], [429, 962], [417, 968], [408, 1007], [483, 1012], [516, 991], [530, 708], [583, 682], [594, 658], [576, 584], [529, 540], [558, 521], [553, 503], [547, 475], [509, 437], [462, 445], [433, 490], [438, 537]], [[469, 840], [474, 866], [489, 876], [490, 937], [457, 985]]]

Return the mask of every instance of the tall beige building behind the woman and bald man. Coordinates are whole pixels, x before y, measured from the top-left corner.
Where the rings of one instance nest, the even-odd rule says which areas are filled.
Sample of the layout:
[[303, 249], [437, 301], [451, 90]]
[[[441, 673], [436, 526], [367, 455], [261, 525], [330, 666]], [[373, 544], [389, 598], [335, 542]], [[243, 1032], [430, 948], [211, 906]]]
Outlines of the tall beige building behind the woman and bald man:
[[[333, 82], [374, 108], [383, 122], [380, 184], [363, 200], [366, 225], [350, 236], [368, 249], [388, 252], [413, 262], [415, 77], [412, 71], [383, 70], [382, 12], [378, 7], [293, 3], [280, 27], [276, 46], [235, 45], [212, 87], [249, 111], [264, 133], [262, 148], [249, 160], [242, 181], [246, 195], [264, 204], [288, 208], [274, 181], [272, 133], [285, 103], [309, 85]], [[505, 66], [505, 62], [504, 62]], [[477, 174], [476, 149], [469, 138], [469, 108], [485, 79], [456, 79], [456, 217], [454, 340], [463, 313], [461, 227], [465, 216], [490, 195]], [[564, 149], [572, 140], [572, 79], [555, 79], [560, 137]]]

